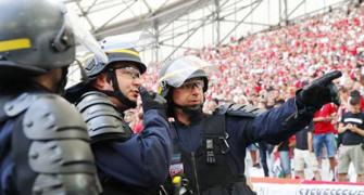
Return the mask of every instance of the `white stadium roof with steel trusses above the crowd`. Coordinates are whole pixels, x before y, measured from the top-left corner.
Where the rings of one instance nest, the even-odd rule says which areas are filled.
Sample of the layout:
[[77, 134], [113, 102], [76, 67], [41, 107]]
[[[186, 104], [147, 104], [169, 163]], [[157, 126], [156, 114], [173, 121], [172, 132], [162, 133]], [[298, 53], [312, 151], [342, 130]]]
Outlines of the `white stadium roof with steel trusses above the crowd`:
[[[64, 0], [98, 40], [138, 46], [145, 62], [228, 43], [342, 0]], [[115, 37], [116, 36], [116, 37]], [[112, 37], [112, 38], [110, 38]]]

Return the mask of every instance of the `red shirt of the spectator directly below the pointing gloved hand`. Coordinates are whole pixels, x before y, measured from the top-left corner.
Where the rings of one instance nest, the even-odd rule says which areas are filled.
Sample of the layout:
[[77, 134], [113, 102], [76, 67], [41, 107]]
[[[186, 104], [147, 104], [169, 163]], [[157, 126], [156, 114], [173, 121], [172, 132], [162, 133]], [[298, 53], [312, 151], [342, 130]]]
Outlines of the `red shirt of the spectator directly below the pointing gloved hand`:
[[[331, 114], [336, 113], [336, 107], [332, 103], [325, 104], [319, 110], [317, 110], [314, 115], [314, 118], [318, 117], [329, 117]], [[322, 134], [322, 133], [336, 133], [337, 130], [335, 129], [331, 121], [316, 121], [314, 122], [314, 134]]]

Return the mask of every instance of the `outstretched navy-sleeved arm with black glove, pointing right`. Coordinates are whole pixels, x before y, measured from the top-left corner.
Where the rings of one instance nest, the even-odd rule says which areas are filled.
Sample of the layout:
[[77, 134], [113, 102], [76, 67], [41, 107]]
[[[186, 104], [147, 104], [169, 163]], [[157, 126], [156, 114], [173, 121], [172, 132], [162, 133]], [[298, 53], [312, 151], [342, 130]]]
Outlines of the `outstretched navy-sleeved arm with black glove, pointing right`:
[[329, 102], [340, 104], [338, 91], [332, 83], [332, 80], [340, 76], [340, 72], [326, 74], [299, 90], [294, 99], [288, 100], [280, 107], [256, 116], [251, 121], [251, 127], [244, 128], [244, 136], [241, 139], [272, 144], [288, 139], [307, 126], [312, 121], [313, 114], [324, 104]]

